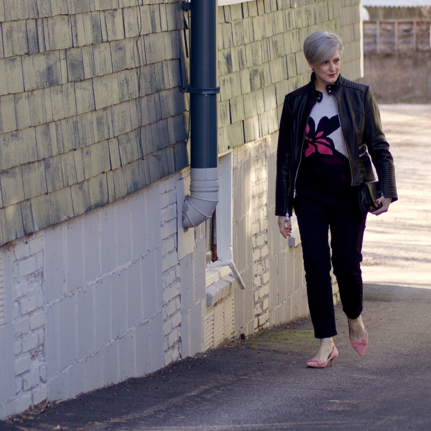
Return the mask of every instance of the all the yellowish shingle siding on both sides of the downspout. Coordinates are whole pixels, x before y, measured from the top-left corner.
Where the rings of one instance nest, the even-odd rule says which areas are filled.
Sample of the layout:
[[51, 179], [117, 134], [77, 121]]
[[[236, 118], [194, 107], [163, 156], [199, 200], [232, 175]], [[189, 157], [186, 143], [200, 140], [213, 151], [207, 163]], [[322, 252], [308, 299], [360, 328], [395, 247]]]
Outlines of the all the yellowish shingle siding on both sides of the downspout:
[[[278, 128], [312, 31], [359, 77], [359, 3], [308, 3], [219, 7], [220, 152]], [[0, 27], [0, 244], [187, 166], [181, 2], [3, 0]]]

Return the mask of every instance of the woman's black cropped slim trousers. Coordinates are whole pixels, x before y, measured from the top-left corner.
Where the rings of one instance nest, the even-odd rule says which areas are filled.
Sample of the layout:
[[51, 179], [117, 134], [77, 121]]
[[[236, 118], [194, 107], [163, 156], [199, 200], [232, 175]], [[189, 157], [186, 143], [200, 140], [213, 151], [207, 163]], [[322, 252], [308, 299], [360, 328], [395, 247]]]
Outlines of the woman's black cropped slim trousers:
[[[340, 289], [343, 311], [350, 319], [362, 312], [362, 239], [367, 213], [359, 209], [357, 194], [334, 206], [307, 197], [294, 200], [301, 242], [308, 305], [316, 338], [337, 335], [331, 284], [332, 266]], [[331, 249], [328, 230], [331, 229]]]

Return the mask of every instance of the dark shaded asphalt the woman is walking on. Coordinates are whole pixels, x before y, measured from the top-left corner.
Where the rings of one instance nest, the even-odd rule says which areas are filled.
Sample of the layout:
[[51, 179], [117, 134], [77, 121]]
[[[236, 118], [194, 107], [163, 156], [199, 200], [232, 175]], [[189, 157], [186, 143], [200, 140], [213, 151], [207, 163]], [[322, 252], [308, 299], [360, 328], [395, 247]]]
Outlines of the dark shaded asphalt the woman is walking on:
[[368, 284], [364, 306], [362, 358], [337, 307], [332, 368], [306, 368], [317, 341], [301, 319], [30, 412], [6, 429], [429, 430], [431, 290]]

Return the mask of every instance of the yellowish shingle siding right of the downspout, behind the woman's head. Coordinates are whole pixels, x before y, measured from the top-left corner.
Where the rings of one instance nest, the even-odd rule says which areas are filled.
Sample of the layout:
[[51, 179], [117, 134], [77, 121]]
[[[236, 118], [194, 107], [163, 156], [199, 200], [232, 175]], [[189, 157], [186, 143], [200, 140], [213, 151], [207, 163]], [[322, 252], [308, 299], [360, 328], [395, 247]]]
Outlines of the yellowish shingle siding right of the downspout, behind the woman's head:
[[344, 41], [342, 74], [359, 78], [359, 0], [259, 0], [219, 7], [219, 152], [278, 129], [284, 95], [309, 81], [314, 31]]

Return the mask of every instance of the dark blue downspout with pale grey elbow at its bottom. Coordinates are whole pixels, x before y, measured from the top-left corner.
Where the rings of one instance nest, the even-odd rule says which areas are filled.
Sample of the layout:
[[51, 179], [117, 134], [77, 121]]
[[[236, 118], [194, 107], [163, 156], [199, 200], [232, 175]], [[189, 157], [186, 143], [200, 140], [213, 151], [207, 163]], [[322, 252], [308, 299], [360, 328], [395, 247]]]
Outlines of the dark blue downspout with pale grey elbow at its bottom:
[[211, 217], [219, 202], [217, 100], [217, 0], [189, 3], [190, 196], [183, 206], [185, 229]]

